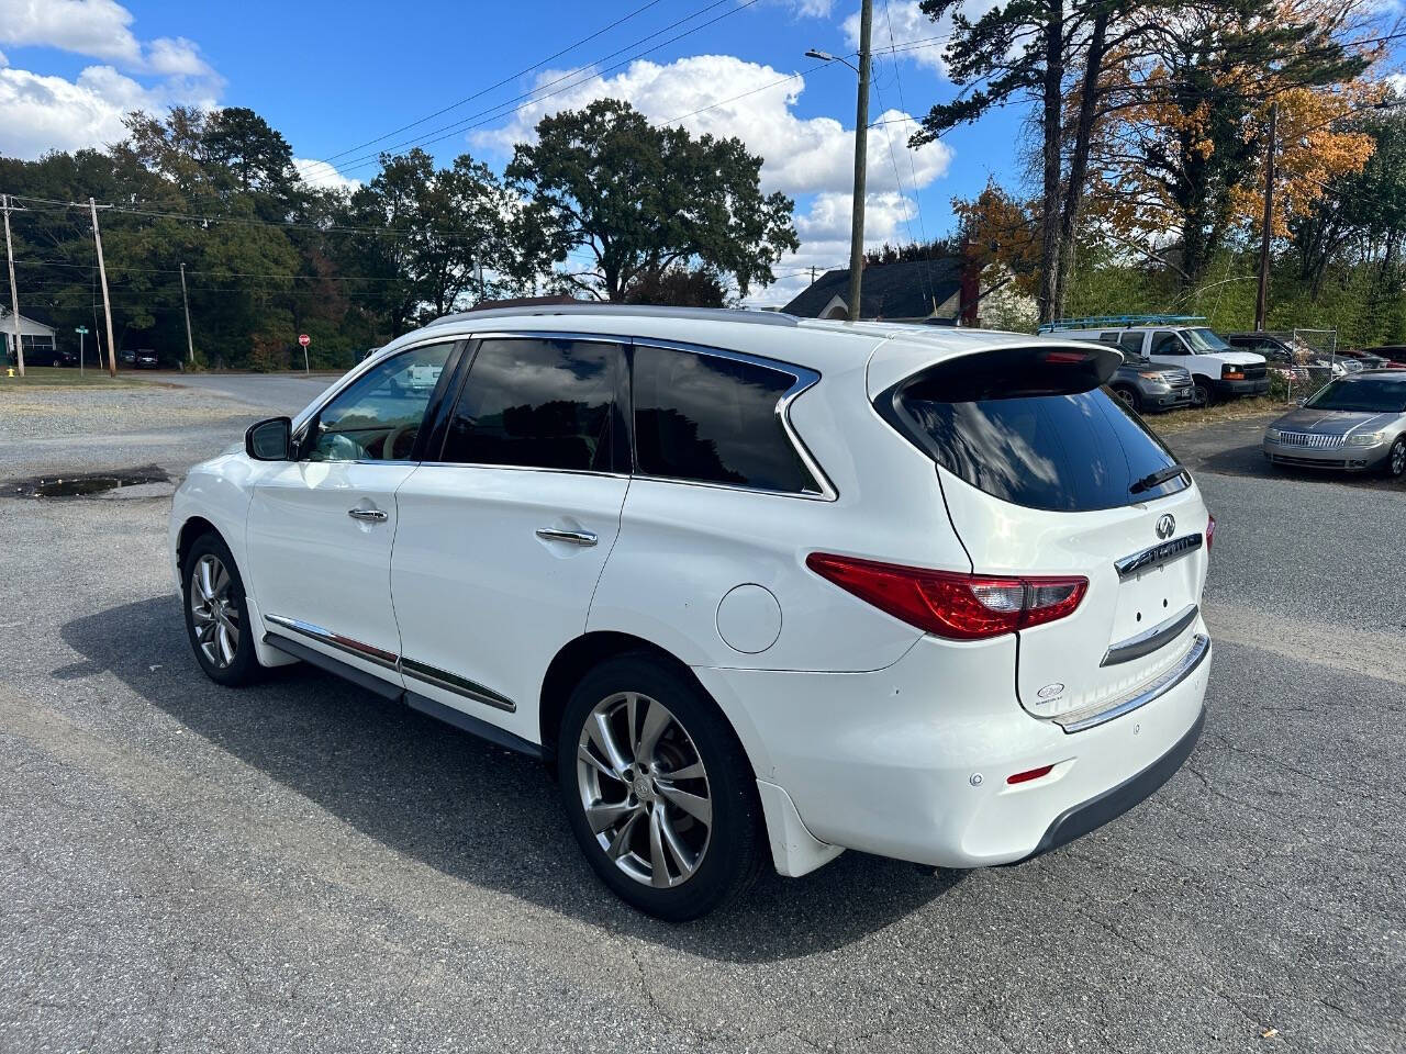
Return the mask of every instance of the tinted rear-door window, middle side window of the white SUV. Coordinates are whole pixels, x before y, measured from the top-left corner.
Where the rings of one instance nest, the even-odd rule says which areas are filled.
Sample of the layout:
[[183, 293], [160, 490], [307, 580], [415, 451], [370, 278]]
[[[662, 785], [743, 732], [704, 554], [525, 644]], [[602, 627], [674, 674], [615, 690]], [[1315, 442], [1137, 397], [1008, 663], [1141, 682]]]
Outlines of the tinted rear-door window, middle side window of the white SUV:
[[485, 340], [450, 417], [441, 461], [609, 472], [626, 469], [616, 389], [619, 344]]

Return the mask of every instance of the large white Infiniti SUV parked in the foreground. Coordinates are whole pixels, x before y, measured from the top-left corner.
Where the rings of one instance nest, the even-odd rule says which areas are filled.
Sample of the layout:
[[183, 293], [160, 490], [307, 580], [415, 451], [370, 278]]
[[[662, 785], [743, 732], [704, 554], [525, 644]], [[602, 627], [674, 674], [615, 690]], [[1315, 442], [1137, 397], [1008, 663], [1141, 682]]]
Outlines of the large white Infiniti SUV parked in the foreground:
[[541, 757], [595, 871], [662, 918], [845, 847], [1022, 860], [1202, 725], [1215, 524], [1101, 388], [1119, 363], [754, 312], [450, 316], [190, 472], [190, 639], [221, 684], [302, 659]]

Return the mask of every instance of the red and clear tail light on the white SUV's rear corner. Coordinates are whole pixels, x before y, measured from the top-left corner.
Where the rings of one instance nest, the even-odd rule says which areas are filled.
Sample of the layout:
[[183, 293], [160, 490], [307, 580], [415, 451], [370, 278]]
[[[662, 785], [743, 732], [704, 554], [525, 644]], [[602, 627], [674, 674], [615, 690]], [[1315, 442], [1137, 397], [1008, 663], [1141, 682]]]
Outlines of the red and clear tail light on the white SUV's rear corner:
[[827, 552], [810, 554], [806, 566], [880, 611], [953, 641], [1052, 623], [1074, 611], [1088, 590], [1088, 579], [1073, 575], [962, 575]]

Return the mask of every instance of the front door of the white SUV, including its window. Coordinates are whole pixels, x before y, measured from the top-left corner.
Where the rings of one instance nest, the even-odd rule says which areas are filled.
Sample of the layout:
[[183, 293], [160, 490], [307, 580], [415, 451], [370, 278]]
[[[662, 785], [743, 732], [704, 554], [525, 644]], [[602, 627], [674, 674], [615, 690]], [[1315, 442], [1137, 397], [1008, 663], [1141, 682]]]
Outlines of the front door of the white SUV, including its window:
[[254, 486], [246, 580], [264, 632], [398, 682], [395, 492], [451, 349], [422, 344], [363, 374], [309, 420], [298, 460]]

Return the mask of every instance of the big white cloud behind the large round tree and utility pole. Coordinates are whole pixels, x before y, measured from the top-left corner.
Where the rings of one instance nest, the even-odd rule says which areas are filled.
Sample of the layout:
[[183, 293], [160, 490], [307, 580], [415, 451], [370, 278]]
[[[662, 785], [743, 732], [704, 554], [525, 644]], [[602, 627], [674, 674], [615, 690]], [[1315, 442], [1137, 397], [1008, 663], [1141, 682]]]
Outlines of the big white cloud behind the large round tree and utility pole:
[[[543, 73], [538, 83], [560, 77]], [[547, 114], [576, 110], [596, 98], [623, 98], [651, 121], [683, 118], [695, 135], [735, 135], [748, 150], [763, 159], [762, 186], [786, 194], [844, 191], [853, 181], [853, 129], [828, 117], [801, 118], [793, 111], [804, 90], [801, 77], [733, 55], [695, 55], [668, 65], [634, 62], [613, 77], [592, 77], [585, 83], [520, 110], [502, 128], [474, 132], [479, 146], [506, 155], [513, 143], [536, 138], [534, 126]], [[696, 111], [703, 112], [696, 112]], [[889, 145], [903, 184], [925, 187], [943, 176], [952, 162], [945, 143], [932, 143], [907, 156], [907, 136], [917, 122], [907, 114], [889, 111], [869, 131], [869, 181], [873, 191], [897, 190]]]

